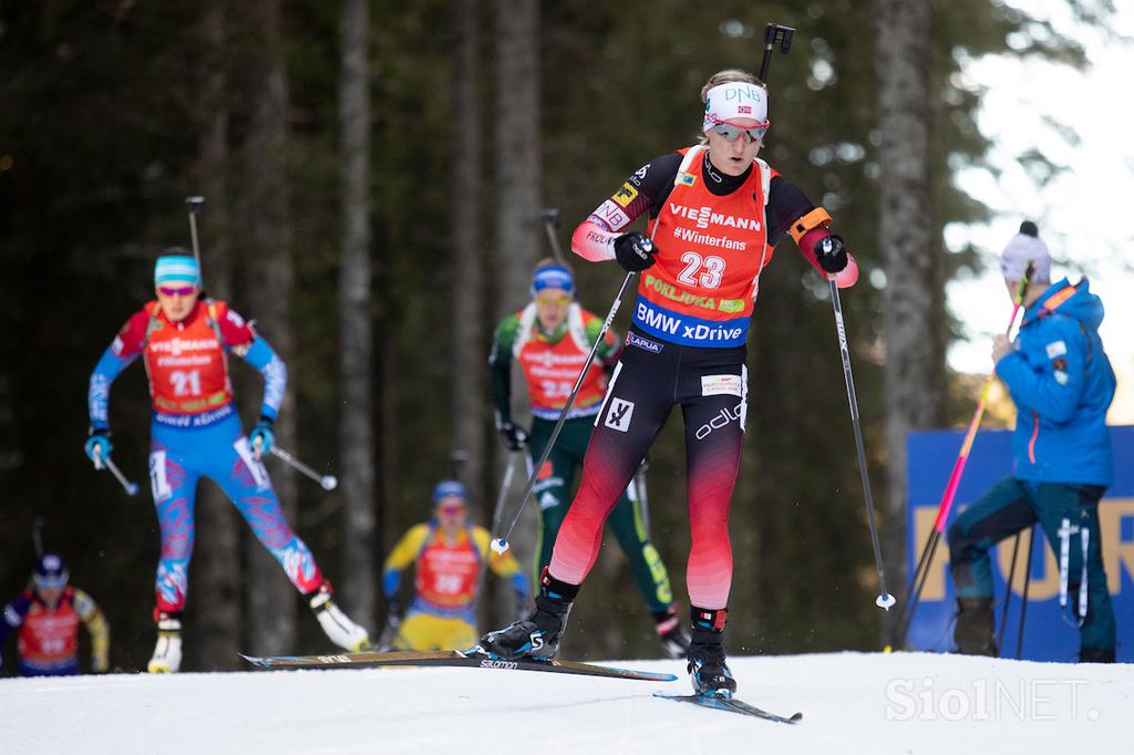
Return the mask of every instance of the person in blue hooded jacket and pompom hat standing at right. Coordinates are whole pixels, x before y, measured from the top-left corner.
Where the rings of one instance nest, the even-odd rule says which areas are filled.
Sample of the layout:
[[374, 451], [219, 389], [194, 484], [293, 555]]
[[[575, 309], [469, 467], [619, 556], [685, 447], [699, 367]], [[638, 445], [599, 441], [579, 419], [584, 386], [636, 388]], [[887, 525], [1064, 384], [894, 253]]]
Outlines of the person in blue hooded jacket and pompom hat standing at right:
[[993, 485], [949, 527], [957, 588], [954, 641], [960, 653], [996, 655], [989, 550], [1039, 521], [1059, 558], [1059, 603], [1080, 630], [1080, 660], [1114, 662], [1115, 613], [1102, 567], [1099, 499], [1111, 484], [1107, 408], [1115, 373], [1099, 338], [1102, 300], [1085, 278], [1051, 283], [1051, 256], [1025, 221], [1000, 268], [1009, 292], [1029, 263], [1024, 319], [1015, 342], [998, 336], [996, 374], [1016, 405], [1014, 474]]

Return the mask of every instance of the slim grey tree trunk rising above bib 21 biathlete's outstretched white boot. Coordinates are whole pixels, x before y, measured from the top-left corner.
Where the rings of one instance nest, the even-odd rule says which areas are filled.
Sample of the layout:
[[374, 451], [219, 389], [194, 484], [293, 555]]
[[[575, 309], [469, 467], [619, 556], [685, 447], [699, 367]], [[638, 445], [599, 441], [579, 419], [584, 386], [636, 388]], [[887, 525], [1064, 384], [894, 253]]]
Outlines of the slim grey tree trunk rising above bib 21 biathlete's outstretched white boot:
[[344, 0], [339, 32], [339, 126], [342, 153], [342, 263], [339, 333], [342, 413], [339, 425], [345, 502], [345, 580], [339, 592], [356, 621], [374, 626], [373, 341], [370, 299], [370, 67], [369, 0]]

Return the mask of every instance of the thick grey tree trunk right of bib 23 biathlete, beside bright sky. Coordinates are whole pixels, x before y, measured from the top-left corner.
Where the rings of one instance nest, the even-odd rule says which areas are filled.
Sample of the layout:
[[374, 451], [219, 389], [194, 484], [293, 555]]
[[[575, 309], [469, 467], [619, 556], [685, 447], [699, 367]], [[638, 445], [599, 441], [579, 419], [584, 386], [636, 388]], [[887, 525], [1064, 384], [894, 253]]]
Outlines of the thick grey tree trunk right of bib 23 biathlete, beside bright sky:
[[882, 133], [878, 229], [886, 269], [883, 526], [887, 575], [898, 592], [906, 583], [906, 435], [932, 426], [940, 406], [938, 241], [930, 203], [930, 9], [925, 0], [878, 0], [874, 17]]

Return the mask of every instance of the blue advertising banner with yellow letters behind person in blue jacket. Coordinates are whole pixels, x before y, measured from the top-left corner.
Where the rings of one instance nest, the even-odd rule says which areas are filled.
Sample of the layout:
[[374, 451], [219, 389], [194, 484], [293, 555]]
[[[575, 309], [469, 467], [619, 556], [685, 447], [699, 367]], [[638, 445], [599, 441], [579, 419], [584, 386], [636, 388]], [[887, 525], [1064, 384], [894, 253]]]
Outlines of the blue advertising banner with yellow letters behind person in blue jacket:
[[[1118, 623], [1118, 660], [1134, 662], [1134, 426], [1111, 427], [1110, 436], [1115, 450], [1115, 484], [1107, 491], [1099, 507], [1102, 560]], [[976, 434], [948, 524], [993, 483], [1012, 474], [1010, 439], [1012, 433], [1006, 430]], [[909, 575], [917, 568], [917, 559], [933, 528], [941, 494], [963, 440], [964, 431], [959, 430], [914, 432], [908, 436], [906, 565]], [[1032, 579], [1021, 658], [1032, 661], [1073, 661], [1078, 654], [1078, 629], [1069, 618], [1065, 620], [1059, 610], [1059, 567], [1056, 554], [1039, 526], [1034, 528], [1034, 536], [1030, 565]], [[1005, 582], [1012, 568], [1013, 544], [1014, 538], [1009, 537], [992, 552], [998, 631]], [[1000, 654], [1004, 658], [1016, 655], [1026, 554], [1027, 531], [1024, 531], [1008, 618], [1002, 631], [1004, 646]], [[922, 591], [921, 603], [909, 626], [907, 643], [912, 650], [954, 648], [956, 600], [953, 579], [948, 574], [949, 549], [942, 535]]]

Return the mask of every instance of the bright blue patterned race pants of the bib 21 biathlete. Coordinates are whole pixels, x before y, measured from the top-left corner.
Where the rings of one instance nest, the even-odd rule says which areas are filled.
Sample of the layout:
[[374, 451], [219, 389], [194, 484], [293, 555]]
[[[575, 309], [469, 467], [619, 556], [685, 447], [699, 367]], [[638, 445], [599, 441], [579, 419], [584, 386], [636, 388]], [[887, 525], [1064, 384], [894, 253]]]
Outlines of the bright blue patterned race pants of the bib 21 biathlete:
[[319, 588], [323, 582], [319, 566], [284, 518], [268, 470], [253, 457], [236, 412], [204, 427], [175, 427], [155, 419], [151, 426], [150, 485], [161, 525], [155, 585], [159, 611], [185, 608], [193, 557], [193, 504], [201, 477], [221, 486], [296, 589], [306, 594]]

